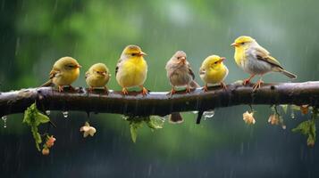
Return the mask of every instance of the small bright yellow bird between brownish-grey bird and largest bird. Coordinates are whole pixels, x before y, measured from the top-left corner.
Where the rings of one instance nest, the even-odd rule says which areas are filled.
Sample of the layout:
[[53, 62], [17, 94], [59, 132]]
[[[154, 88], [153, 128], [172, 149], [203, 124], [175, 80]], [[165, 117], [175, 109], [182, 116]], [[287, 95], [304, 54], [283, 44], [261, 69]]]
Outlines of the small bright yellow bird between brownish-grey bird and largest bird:
[[222, 88], [227, 88], [223, 83], [223, 80], [228, 75], [228, 69], [222, 62], [224, 60], [224, 57], [211, 55], [203, 61], [199, 69], [199, 77], [205, 82], [205, 86], [203, 87], [205, 92], [208, 91], [207, 84], [220, 84]]

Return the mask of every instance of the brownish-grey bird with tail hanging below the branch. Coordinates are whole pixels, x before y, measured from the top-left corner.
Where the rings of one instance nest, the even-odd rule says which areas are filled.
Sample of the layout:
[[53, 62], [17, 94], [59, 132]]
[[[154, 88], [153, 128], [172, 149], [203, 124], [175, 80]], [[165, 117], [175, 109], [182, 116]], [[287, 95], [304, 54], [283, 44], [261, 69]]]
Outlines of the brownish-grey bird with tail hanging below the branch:
[[[186, 58], [186, 53], [178, 51], [166, 63], [167, 77], [172, 85], [171, 95], [176, 93], [175, 87], [186, 87], [186, 93], [190, 93], [191, 88], [200, 87], [194, 80], [194, 72]], [[172, 113], [170, 121], [172, 123], [181, 123], [183, 118], [180, 113]]]

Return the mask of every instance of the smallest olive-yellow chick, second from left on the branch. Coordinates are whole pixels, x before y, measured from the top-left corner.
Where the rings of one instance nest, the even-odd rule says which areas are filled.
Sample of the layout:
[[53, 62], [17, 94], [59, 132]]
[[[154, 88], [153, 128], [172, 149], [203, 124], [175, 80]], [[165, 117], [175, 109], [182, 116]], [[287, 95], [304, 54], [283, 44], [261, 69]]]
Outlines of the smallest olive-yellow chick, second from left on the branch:
[[103, 87], [105, 92], [108, 93], [105, 86], [109, 81], [111, 75], [109, 69], [104, 63], [97, 63], [91, 66], [85, 74], [86, 82], [89, 86], [88, 91], [91, 92], [94, 88]]

